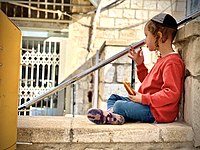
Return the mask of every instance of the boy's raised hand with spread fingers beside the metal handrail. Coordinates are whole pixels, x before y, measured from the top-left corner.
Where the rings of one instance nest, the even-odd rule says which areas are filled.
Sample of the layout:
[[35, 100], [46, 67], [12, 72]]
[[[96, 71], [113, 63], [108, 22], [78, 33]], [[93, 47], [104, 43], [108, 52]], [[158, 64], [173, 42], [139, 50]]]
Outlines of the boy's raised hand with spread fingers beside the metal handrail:
[[134, 60], [137, 65], [141, 65], [144, 62], [144, 56], [141, 48], [139, 51], [135, 52], [134, 47], [131, 47], [128, 57]]

